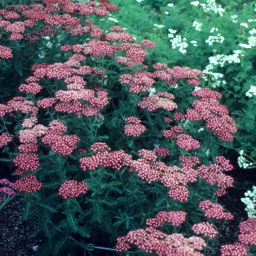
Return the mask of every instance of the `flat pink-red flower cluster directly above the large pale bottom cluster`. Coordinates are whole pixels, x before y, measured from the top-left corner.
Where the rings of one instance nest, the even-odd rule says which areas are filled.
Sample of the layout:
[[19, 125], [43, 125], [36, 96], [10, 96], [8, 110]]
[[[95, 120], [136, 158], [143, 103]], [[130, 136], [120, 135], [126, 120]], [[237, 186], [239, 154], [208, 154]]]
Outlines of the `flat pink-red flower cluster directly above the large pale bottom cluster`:
[[185, 211], [160, 211], [154, 219], [146, 219], [146, 225], [150, 227], [162, 227], [164, 222], [179, 226], [186, 220]]

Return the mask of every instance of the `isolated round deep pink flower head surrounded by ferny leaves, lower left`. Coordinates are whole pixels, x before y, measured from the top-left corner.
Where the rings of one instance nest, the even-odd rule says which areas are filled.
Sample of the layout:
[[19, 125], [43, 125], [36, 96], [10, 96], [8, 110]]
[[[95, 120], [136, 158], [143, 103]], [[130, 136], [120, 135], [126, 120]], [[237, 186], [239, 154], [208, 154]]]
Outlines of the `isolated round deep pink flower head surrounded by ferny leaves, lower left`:
[[59, 188], [59, 195], [64, 199], [79, 197], [81, 194], [86, 194], [88, 186], [86, 182], [78, 182], [74, 180], [65, 181]]

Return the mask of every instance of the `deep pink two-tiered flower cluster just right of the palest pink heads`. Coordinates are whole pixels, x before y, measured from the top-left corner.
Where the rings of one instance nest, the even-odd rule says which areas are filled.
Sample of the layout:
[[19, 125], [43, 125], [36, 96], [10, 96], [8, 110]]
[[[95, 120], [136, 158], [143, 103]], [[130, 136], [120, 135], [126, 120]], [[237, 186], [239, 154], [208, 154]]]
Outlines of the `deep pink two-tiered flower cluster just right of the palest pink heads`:
[[72, 154], [77, 148], [75, 145], [80, 138], [77, 135], [64, 135], [67, 127], [59, 120], [54, 120], [49, 124], [48, 132], [42, 138], [42, 143], [50, 146], [51, 151], [60, 153], [63, 156]]

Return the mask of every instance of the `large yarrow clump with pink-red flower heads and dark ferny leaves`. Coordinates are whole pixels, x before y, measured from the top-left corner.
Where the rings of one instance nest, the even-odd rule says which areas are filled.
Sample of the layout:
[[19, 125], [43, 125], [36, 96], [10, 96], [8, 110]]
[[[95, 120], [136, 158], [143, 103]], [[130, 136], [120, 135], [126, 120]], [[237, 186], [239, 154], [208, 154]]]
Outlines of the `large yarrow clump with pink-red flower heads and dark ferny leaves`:
[[155, 43], [112, 26], [115, 11], [107, 0], [0, 11], [3, 81], [15, 90], [1, 96], [1, 161], [23, 217], [39, 223], [39, 255], [91, 244], [216, 255], [218, 227], [233, 219], [217, 202], [233, 187], [221, 149], [236, 124], [222, 95], [200, 88], [202, 71], [147, 61]]

